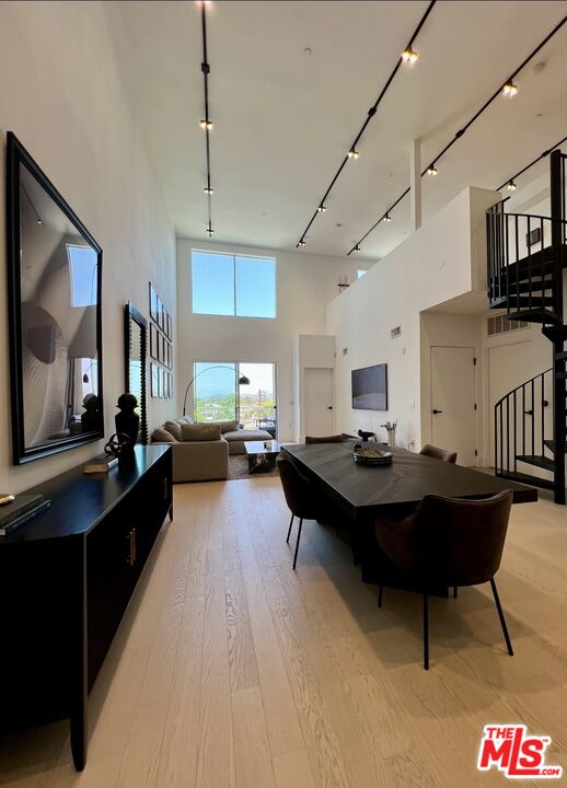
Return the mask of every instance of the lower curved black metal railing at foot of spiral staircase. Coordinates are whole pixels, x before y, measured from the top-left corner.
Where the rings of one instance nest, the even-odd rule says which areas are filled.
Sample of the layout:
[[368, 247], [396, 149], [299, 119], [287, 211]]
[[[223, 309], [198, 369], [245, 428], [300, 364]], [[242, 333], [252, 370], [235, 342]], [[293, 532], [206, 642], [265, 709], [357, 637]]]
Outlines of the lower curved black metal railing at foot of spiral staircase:
[[[552, 368], [496, 403], [494, 464], [497, 475], [518, 473], [519, 456], [547, 456], [545, 441], [553, 436], [553, 383]], [[521, 473], [525, 473], [523, 466]]]

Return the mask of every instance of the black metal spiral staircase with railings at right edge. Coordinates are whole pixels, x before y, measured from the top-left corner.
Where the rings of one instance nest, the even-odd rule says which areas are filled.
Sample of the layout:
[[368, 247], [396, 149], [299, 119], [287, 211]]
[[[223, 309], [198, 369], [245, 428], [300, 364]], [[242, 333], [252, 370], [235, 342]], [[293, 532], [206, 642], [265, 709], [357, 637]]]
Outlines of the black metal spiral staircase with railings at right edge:
[[486, 215], [490, 309], [540, 324], [553, 363], [495, 405], [496, 475], [551, 489], [556, 503], [565, 503], [567, 452], [566, 160], [559, 150], [551, 153], [551, 217], [508, 213], [507, 200]]

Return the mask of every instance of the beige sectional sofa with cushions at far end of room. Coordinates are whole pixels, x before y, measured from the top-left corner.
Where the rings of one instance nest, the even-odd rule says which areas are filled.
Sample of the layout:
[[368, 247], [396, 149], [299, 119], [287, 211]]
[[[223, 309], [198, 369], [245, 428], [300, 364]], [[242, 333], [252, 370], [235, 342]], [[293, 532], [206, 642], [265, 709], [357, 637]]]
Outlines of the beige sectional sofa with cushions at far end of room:
[[240, 429], [236, 421], [194, 424], [188, 416], [165, 421], [152, 432], [152, 443], [173, 444], [174, 483], [225, 479], [229, 453], [244, 454], [247, 440], [271, 440], [271, 436], [265, 430]]

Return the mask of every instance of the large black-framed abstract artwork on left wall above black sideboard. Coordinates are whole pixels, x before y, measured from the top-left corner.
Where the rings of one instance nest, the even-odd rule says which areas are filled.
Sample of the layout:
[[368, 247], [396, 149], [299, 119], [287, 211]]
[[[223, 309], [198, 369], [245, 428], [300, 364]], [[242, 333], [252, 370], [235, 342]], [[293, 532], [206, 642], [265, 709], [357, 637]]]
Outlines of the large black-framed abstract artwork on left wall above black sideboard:
[[7, 138], [15, 464], [104, 437], [102, 258], [15, 135]]

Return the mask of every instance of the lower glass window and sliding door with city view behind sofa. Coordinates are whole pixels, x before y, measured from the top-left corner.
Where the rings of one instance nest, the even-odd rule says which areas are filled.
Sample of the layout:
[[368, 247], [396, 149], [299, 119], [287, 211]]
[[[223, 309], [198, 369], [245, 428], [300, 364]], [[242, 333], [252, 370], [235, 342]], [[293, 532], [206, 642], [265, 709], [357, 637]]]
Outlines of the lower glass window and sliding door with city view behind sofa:
[[[195, 376], [196, 421], [235, 419], [248, 429], [275, 426], [275, 364], [197, 361]], [[242, 376], [250, 384], [239, 385]]]

